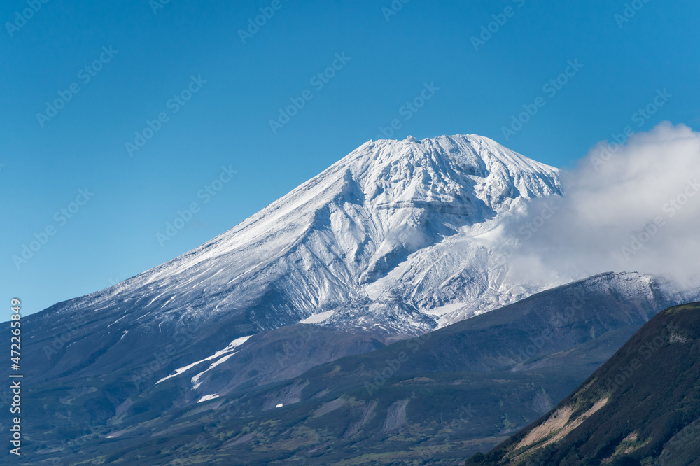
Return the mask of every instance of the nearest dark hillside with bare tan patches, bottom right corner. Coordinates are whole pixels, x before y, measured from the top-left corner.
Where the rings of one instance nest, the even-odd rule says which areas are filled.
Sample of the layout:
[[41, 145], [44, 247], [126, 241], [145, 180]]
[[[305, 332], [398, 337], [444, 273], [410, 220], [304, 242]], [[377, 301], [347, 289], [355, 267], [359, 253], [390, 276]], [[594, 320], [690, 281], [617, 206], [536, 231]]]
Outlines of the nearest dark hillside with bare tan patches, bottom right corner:
[[659, 313], [547, 415], [467, 463], [700, 465], [700, 303]]

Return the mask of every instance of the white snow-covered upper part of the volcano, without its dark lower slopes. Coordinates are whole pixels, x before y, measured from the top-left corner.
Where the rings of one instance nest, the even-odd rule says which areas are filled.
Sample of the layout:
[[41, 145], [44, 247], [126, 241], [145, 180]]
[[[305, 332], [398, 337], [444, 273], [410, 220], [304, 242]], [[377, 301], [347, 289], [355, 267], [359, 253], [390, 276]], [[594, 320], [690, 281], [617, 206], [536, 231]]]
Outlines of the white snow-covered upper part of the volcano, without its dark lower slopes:
[[[369, 141], [228, 232], [66, 309], [141, 324], [245, 316], [421, 333], [538, 291], [491, 271], [489, 231], [558, 171], [481, 136]], [[500, 241], [500, 240], [499, 240]], [[437, 311], [435, 308], [440, 307]]]

